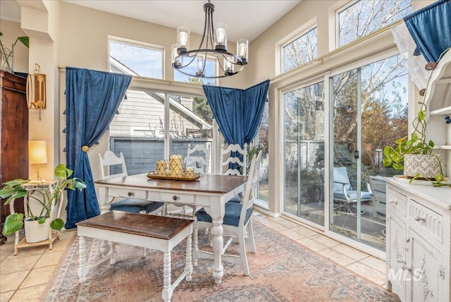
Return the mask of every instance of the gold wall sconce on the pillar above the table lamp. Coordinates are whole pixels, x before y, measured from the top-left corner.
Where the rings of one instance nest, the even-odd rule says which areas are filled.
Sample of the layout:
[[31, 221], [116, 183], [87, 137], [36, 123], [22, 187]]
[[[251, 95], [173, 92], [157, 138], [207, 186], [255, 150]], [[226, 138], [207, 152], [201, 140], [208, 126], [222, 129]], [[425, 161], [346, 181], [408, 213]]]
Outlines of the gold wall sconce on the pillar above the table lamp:
[[39, 119], [41, 110], [47, 108], [45, 92], [45, 75], [41, 74], [41, 66], [35, 64], [33, 74], [29, 74], [27, 78], [27, 105], [28, 109], [39, 110]]

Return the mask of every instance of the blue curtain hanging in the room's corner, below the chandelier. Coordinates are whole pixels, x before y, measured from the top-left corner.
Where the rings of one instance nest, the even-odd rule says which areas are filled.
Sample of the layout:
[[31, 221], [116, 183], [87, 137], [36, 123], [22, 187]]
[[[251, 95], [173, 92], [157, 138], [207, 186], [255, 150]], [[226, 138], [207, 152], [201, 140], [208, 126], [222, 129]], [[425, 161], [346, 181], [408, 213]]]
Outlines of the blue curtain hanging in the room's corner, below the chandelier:
[[269, 80], [245, 90], [202, 85], [207, 102], [228, 144], [251, 143], [259, 130]]

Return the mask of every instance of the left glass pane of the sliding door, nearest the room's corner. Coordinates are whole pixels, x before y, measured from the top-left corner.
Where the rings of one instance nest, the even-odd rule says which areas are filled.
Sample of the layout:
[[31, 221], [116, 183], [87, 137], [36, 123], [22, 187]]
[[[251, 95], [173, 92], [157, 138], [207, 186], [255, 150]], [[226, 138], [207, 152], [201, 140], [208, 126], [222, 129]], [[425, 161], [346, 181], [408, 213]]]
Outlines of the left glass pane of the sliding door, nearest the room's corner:
[[285, 123], [284, 210], [324, 224], [324, 83], [283, 96]]

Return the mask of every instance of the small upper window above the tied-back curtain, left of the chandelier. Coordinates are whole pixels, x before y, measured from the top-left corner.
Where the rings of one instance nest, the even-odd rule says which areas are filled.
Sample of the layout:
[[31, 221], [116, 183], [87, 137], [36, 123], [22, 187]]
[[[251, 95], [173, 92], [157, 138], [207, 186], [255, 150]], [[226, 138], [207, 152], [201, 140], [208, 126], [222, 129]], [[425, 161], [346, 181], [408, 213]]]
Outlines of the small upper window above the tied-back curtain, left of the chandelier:
[[112, 72], [163, 78], [163, 49], [110, 40], [109, 59]]

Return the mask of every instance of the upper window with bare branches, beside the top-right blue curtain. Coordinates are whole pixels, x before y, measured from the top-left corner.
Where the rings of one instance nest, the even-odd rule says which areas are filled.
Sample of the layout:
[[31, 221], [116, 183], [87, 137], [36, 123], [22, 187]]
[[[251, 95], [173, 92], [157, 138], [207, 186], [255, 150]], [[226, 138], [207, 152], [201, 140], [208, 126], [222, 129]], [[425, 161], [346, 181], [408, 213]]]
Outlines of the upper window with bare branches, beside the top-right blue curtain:
[[359, 0], [338, 13], [338, 47], [412, 13], [412, 0]]

